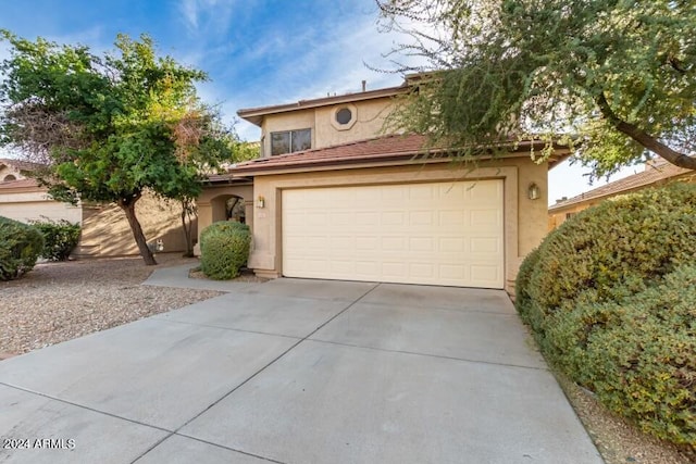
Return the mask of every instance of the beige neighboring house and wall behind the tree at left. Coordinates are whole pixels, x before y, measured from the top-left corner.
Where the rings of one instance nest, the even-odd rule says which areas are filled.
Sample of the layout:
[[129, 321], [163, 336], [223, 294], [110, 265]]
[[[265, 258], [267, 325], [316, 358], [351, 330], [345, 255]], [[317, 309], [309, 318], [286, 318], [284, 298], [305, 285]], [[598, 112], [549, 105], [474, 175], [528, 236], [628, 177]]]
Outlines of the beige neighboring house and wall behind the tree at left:
[[[51, 200], [28, 173], [36, 168], [16, 160], [0, 160], [0, 216], [23, 223], [65, 220], [82, 226], [75, 258], [105, 258], [139, 254], [123, 211], [113, 204], [71, 205]], [[185, 251], [181, 206], [144, 195], [136, 212], [148, 241], [162, 239], [164, 251]], [[196, 230], [196, 229], [194, 229]], [[194, 231], [196, 233], [196, 231]]]

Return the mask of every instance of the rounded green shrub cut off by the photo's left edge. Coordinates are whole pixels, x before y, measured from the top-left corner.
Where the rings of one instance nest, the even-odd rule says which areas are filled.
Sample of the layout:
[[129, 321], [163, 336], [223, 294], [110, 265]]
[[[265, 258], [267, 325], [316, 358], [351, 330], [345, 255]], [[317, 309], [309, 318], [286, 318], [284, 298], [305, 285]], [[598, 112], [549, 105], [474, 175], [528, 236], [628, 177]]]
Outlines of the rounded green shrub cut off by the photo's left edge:
[[0, 280], [32, 271], [42, 249], [44, 236], [38, 229], [0, 216]]

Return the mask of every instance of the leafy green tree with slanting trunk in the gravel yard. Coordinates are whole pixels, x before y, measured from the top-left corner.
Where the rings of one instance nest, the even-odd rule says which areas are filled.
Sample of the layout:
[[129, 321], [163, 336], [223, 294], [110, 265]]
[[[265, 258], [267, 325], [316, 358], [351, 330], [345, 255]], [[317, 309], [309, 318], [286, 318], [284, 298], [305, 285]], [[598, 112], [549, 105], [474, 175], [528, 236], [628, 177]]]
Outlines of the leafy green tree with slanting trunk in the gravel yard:
[[145, 263], [157, 264], [137, 201], [147, 190], [196, 198], [198, 180], [231, 155], [215, 141], [219, 117], [196, 96], [206, 74], [158, 58], [147, 36], [119, 35], [103, 57], [7, 30], [0, 39], [11, 46], [0, 65], [0, 143], [47, 166], [35, 174], [54, 199], [117, 204]]

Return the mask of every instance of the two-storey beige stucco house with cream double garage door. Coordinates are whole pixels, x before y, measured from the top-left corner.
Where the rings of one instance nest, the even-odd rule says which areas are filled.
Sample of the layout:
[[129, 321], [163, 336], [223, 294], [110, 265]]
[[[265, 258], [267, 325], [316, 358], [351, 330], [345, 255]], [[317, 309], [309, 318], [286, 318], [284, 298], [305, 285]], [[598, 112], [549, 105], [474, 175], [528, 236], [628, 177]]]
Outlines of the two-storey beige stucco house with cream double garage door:
[[530, 148], [475, 168], [417, 135], [380, 135], [402, 86], [253, 108], [261, 158], [211, 176], [200, 229], [244, 204], [249, 267], [307, 277], [511, 290], [546, 234], [548, 168]]

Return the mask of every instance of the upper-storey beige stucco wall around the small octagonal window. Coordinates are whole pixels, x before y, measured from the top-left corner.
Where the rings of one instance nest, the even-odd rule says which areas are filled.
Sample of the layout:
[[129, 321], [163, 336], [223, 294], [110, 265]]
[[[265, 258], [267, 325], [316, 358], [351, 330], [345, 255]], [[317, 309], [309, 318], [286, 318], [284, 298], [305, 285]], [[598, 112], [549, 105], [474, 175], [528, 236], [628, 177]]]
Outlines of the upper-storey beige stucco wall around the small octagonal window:
[[[348, 129], [332, 124], [335, 112], [344, 106], [349, 106], [353, 112], [355, 124], [349, 124]], [[264, 155], [271, 153], [271, 133], [283, 130], [312, 129], [312, 148], [331, 147], [375, 137], [380, 134], [390, 106], [390, 98], [380, 98], [270, 114], [263, 118], [261, 126], [262, 153]]]

